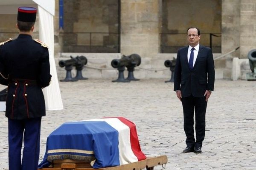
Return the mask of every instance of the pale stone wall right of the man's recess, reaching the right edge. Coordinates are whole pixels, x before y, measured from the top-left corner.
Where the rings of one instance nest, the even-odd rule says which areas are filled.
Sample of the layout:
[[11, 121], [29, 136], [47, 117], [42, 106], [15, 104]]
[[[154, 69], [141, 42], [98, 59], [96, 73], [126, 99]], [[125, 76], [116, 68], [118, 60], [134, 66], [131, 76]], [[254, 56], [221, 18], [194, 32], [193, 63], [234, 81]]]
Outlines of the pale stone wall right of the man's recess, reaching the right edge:
[[224, 78], [232, 76], [234, 57], [246, 59], [248, 52], [256, 48], [255, 18], [255, 0], [222, 0], [222, 54], [240, 47], [219, 60], [224, 63]]

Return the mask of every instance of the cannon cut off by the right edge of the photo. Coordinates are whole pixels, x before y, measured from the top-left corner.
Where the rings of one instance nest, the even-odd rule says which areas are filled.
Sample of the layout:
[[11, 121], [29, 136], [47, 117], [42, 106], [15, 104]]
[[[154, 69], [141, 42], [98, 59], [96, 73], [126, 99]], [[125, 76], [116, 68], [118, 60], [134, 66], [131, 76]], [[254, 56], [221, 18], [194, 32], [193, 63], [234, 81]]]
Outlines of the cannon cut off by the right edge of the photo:
[[247, 55], [252, 73], [246, 74], [247, 80], [256, 80], [256, 49], [249, 51]]

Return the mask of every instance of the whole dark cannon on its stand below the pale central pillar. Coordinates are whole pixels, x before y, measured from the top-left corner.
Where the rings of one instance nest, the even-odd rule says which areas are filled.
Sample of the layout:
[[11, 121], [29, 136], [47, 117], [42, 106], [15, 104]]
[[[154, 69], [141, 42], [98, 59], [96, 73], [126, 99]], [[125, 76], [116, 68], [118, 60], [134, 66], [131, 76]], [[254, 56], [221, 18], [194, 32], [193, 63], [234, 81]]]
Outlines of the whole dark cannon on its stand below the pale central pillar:
[[[121, 59], [113, 59], [111, 61], [111, 65], [113, 68], [117, 68], [119, 71], [118, 78], [116, 80], [113, 80], [112, 82], [130, 82], [137, 81], [140, 79], [134, 78], [134, 68], [136, 66], [139, 66], [141, 63], [141, 58], [138, 54], [131, 54], [129, 56], [122, 55]], [[125, 67], [127, 67], [128, 70], [128, 77], [124, 79], [124, 71]]]

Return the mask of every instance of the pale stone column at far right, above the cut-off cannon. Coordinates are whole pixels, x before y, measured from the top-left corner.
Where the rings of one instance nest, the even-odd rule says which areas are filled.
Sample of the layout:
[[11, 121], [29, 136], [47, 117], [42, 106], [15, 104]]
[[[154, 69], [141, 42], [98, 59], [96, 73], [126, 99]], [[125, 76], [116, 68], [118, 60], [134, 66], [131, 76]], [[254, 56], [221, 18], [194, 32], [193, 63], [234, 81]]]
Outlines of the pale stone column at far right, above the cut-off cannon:
[[256, 1], [241, 0], [240, 9], [240, 58], [246, 58], [256, 49]]

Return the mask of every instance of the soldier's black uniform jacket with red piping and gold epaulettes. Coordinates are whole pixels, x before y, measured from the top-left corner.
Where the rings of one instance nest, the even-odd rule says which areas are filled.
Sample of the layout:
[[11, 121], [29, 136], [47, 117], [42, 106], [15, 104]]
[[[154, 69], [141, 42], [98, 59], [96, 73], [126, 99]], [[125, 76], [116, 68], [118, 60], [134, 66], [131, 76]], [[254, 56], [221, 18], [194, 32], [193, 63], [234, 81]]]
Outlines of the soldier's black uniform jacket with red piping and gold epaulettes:
[[45, 116], [42, 88], [51, 80], [48, 48], [28, 34], [0, 45], [0, 83], [8, 85], [6, 117]]

